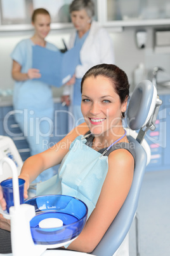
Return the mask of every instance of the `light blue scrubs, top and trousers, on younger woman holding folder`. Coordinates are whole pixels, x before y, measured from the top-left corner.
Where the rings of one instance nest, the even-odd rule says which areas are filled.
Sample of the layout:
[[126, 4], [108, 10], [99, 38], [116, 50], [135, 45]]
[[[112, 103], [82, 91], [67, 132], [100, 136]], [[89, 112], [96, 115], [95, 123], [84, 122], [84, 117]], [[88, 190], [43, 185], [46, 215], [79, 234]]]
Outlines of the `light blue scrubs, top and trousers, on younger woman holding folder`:
[[[32, 46], [34, 43], [31, 39], [23, 39], [11, 53], [11, 58], [22, 66], [22, 73], [32, 68]], [[58, 51], [55, 45], [48, 42], [46, 48]], [[30, 154], [35, 155], [48, 149], [54, 113], [51, 86], [35, 79], [15, 81], [13, 107], [16, 122], [29, 143]], [[52, 168], [41, 173], [34, 182], [48, 180], [51, 176]]]

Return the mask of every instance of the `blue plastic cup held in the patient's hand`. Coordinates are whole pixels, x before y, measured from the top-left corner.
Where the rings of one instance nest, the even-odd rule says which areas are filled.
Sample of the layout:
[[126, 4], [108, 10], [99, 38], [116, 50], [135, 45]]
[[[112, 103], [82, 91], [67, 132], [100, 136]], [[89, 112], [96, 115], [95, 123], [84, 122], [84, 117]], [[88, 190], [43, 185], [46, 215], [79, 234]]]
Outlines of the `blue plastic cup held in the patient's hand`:
[[[23, 188], [25, 180], [18, 179], [19, 183], [19, 193], [20, 193], [20, 204], [23, 204]], [[3, 188], [3, 196], [6, 201], [6, 210], [9, 213], [9, 209], [14, 205], [13, 203], [13, 181], [12, 179], [4, 180], [1, 182], [1, 187]]]

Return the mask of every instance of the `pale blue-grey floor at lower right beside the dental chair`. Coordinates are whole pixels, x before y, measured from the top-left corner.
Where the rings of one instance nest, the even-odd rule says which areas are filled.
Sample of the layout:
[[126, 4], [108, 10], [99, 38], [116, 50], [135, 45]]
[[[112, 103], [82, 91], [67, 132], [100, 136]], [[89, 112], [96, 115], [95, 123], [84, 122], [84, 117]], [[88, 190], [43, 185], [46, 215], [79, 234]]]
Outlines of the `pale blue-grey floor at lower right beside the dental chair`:
[[[140, 256], [170, 255], [170, 170], [145, 173], [138, 204]], [[129, 256], [136, 256], [134, 223]]]

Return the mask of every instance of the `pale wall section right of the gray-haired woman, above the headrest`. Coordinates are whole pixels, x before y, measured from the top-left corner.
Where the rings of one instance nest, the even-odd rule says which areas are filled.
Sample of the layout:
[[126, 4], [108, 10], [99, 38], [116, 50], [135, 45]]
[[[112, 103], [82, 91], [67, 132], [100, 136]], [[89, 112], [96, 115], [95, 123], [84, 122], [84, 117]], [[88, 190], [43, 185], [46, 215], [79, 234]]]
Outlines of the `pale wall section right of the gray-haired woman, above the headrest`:
[[[136, 31], [147, 31], [146, 47], [139, 49], [136, 45]], [[155, 53], [154, 27], [126, 27], [122, 32], [110, 34], [114, 41], [116, 64], [122, 68], [129, 77], [131, 90], [134, 89], [134, 69], [141, 62], [147, 69], [147, 79], [152, 79], [152, 69], [155, 66], [164, 68], [164, 72], [158, 73], [158, 80], [170, 80], [170, 51]]]

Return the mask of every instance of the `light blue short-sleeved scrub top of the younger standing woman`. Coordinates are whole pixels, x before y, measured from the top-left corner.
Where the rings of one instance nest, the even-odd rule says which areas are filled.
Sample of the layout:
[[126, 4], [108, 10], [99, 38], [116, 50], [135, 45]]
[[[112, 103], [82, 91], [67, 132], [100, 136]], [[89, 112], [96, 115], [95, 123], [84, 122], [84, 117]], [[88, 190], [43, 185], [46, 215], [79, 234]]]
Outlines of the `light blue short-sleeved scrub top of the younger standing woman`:
[[[11, 59], [22, 66], [21, 72], [27, 73], [32, 68], [32, 46], [31, 39], [23, 39], [11, 53]], [[58, 51], [58, 48], [46, 42], [46, 48]], [[13, 106], [15, 110], [34, 110], [37, 117], [53, 118], [53, 97], [51, 86], [35, 80], [15, 81], [13, 93]]]

